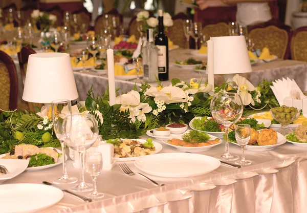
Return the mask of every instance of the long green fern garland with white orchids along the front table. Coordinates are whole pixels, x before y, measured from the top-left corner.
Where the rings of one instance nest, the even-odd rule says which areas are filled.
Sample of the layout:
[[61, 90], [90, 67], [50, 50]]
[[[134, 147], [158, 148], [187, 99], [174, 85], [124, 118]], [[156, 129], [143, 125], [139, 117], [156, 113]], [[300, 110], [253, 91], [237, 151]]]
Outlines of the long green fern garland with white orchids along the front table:
[[[92, 114], [99, 125], [104, 140], [138, 138], [147, 130], [168, 123], [189, 123], [195, 116], [209, 116], [210, 102], [214, 93], [235, 92], [245, 105], [245, 114], [255, 110], [279, 107], [270, 86], [272, 81], [263, 80], [254, 87], [246, 78], [235, 75], [233, 81], [215, 87], [207, 82], [191, 79], [190, 82], [174, 78], [164, 86], [158, 79], [158, 87], [147, 82], [139, 88], [116, 97], [116, 104], [108, 103], [108, 89], [96, 96], [89, 90], [85, 101], [72, 106], [72, 113]], [[0, 115], [0, 154], [10, 152], [16, 144], [60, 146], [53, 134], [51, 108], [43, 106], [33, 112], [3, 112]], [[63, 108], [62, 113], [66, 114]]]

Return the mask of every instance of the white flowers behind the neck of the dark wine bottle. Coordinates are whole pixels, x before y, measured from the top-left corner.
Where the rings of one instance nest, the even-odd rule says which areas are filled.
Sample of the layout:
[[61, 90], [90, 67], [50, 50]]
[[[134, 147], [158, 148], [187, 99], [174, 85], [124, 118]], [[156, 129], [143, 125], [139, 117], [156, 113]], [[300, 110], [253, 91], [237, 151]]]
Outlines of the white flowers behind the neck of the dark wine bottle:
[[[137, 14], [137, 22], [144, 22], [143, 31], [146, 32], [147, 29], [157, 28], [159, 21], [156, 17], [149, 17], [148, 11], [141, 11]], [[169, 13], [164, 12], [163, 13], [163, 25], [165, 28], [173, 26], [173, 20], [171, 19], [171, 16]]]

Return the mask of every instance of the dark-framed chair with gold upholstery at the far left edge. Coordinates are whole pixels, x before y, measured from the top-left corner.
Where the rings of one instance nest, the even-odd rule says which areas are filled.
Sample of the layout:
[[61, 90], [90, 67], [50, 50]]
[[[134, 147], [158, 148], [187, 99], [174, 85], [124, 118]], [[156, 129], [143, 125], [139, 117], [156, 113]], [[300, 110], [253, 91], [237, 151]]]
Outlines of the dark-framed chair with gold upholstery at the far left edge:
[[16, 67], [12, 58], [3, 51], [0, 51], [0, 76], [0, 108], [15, 110], [18, 97]]

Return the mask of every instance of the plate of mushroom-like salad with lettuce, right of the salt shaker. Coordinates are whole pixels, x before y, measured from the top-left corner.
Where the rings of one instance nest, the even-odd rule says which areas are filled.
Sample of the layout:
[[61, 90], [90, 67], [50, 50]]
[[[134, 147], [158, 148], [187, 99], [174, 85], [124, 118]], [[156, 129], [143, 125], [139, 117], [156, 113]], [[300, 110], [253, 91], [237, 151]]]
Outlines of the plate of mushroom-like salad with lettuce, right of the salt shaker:
[[142, 139], [109, 139], [104, 141], [114, 145], [114, 159], [116, 161], [132, 161], [141, 156], [157, 154], [162, 150], [162, 145], [152, 141]]

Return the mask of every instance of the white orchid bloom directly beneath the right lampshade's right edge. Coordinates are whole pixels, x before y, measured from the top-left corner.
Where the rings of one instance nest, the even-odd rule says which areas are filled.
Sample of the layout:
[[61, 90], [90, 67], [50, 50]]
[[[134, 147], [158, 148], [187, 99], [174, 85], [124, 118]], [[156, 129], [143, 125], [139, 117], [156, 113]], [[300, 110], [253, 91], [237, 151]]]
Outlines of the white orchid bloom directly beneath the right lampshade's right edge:
[[245, 77], [236, 74], [232, 79], [238, 86], [238, 94], [240, 95], [244, 105], [255, 105], [252, 95], [248, 91], [254, 91], [256, 88]]

